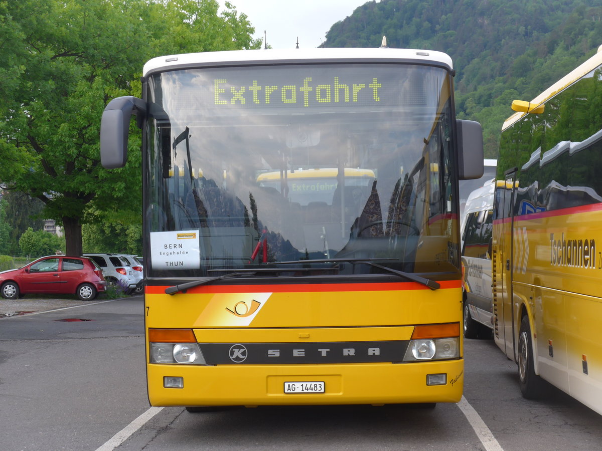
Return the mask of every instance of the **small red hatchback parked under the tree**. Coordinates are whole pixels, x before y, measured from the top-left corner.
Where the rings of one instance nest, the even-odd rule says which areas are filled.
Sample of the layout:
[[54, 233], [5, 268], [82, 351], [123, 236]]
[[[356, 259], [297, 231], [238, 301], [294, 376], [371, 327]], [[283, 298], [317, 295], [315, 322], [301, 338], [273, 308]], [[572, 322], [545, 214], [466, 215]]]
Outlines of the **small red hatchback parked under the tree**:
[[5, 299], [28, 293], [60, 293], [92, 301], [106, 285], [101, 269], [86, 257], [42, 257], [23, 268], [0, 272], [0, 294]]

